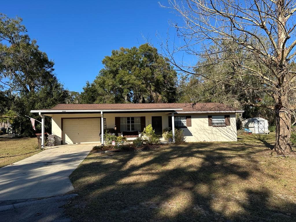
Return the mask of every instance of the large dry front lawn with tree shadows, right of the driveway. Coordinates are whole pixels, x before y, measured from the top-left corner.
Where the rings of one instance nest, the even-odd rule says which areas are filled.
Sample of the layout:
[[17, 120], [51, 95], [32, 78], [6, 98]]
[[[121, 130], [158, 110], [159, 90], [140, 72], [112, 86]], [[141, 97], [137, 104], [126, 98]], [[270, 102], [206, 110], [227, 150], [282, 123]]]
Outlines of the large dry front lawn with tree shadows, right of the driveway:
[[90, 153], [70, 179], [73, 221], [296, 221], [296, 159], [274, 134]]

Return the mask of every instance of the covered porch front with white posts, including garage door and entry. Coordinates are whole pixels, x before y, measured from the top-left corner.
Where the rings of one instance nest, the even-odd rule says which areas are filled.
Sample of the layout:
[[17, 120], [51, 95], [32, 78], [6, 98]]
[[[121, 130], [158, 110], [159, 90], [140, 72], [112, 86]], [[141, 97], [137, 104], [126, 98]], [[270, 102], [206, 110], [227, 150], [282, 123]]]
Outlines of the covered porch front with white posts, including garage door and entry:
[[[142, 136], [140, 133], [149, 124], [152, 124], [152, 128], [159, 136], [165, 128], [175, 128], [174, 112], [167, 110], [165, 112], [41, 113], [43, 131], [45, 115], [52, 118], [52, 134], [57, 137], [57, 145], [104, 144], [104, 133], [107, 130], [115, 136], [126, 136], [128, 141], [132, 141]], [[162, 137], [160, 140], [166, 143]], [[41, 145], [44, 147], [43, 139]]]

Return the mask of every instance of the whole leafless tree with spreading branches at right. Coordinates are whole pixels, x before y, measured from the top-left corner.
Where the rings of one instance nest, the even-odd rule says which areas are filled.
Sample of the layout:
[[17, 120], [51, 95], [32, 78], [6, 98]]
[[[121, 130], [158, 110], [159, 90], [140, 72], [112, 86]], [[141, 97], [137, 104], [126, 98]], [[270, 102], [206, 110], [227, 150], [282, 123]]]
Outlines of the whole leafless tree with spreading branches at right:
[[[296, 2], [169, 0], [169, 4], [168, 8], [181, 18], [181, 24], [175, 22], [173, 26], [184, 44], [170, 47], [167, 42], [165, 56], [183, 73], [198, 75], [200, 83], [236, 89], [237, 93], [248, 95], [244, 104], [272, 110], [277, 120], [274, 150], [292, 152]], [[185, 65], [176, 60], [180, 52], [197, 56], [202, 62]], [[215, 75], [197, 71], [201, 68]], [[258, 96], [251, 96], [253, 93], [270, 96], [272, 104], [260, 102]]]

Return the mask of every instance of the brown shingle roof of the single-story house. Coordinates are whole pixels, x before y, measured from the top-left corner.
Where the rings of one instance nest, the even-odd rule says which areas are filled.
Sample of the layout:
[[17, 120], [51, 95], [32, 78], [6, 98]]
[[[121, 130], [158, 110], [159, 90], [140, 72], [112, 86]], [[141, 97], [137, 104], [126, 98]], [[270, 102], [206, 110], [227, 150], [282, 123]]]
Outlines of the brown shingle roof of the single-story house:
[[118, 103], [118, 104], [57, 104], [51, 109], [44, 110], [153, 110], [153, 109], [182, 109], [177, 112], [242, 112], [221, 103]]

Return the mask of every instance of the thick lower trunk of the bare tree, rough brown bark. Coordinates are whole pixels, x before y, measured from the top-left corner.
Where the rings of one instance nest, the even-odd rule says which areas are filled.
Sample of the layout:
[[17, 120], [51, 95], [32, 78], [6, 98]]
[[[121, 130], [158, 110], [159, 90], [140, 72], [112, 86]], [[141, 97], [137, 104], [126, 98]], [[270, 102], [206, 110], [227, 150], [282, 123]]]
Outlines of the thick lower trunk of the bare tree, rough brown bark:
[[274, 151], [278, 154], [289, 154], [291, 148], [291, 112], [285, 107], [276, 106], [276, 144]]

